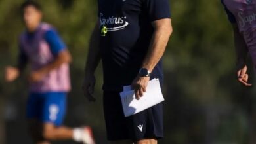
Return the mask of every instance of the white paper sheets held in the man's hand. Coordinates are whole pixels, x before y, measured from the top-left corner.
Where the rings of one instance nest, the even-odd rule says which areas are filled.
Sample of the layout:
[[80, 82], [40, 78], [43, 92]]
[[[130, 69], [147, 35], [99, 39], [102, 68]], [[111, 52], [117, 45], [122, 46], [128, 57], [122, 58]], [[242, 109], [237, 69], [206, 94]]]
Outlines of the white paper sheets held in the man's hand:
[[144, 111], [164, 101], [159, 79], [152, 79], [148, 82], [146, 92], [139, 100], [135, 99], [135, 93], [134, 90], [131, 90], [131, 86], [124, 86], [123, 90], [120, 96], [125, 117]]

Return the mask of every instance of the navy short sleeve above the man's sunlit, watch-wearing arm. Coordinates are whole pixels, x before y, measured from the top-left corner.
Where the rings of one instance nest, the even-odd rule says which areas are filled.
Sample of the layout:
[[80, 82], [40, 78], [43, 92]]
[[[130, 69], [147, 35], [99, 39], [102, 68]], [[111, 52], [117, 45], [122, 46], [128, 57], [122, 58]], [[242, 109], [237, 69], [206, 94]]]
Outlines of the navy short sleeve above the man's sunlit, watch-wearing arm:
[[144, 0], [150, 21], [171, 18], [169, 0]]

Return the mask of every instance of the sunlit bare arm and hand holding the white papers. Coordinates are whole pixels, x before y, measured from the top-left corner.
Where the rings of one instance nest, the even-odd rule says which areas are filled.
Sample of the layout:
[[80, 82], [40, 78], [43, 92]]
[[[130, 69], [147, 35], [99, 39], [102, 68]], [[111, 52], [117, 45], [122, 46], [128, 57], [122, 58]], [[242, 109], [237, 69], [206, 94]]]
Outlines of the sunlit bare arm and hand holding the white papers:
[[[150, 47], [148, 49], [148, 53], [142, 63], [142, 68], [148, 69], [150, 72], [154, 69], [156, 64], [159, 62], [163, 53], [165, 52], [165, 48], [169, 41], [169, 37], [173, 31], [171, 26], [171, 19], [165, 18], [161, 20], [156, 20], [152, 22], [152, 26], [154, 27], [154, 34], [152, 36], [152, 40], [150, 43]], [[135, 81], [133, 81], [133, 88], [135, 88], [135, 96], [137, 99], [143, 96], [143, 92], [146, 92], [146, 87], [148, 85], [148, 81], [150, 77], [137, 77]]]

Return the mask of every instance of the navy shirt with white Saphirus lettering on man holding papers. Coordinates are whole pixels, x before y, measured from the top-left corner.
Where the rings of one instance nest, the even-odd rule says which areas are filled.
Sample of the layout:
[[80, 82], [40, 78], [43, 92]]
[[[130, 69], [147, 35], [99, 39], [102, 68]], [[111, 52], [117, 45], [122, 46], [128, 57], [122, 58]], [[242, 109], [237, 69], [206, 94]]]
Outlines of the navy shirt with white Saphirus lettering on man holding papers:
[[[104, 90], [120, 91], [139, 73], [154, 33], [152, 22], [170, 18], [169, 0], [98, 0]], [[163, 81], [162, 60], [151, 79]]]

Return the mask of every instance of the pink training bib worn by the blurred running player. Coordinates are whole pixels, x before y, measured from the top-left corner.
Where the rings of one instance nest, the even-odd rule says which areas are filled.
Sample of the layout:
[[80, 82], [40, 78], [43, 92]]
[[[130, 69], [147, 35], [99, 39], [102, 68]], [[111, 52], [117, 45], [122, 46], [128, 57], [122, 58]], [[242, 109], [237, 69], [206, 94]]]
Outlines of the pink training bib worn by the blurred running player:
[[[49, 24], [41, 24], [35, 33], [24, 31], [20, 37], [20, 48], [28, 57], [32, 71], [52, 63], [56, 56], [45, 41], [45, 33], [53, 30]], [[67, 63], [53, 69], [39, 82], [30, 84], [31, 92], [67, 92], [70, 90], [69, 66]]]

